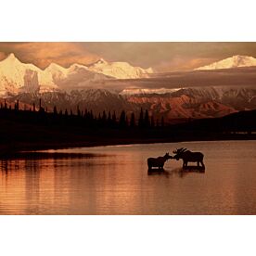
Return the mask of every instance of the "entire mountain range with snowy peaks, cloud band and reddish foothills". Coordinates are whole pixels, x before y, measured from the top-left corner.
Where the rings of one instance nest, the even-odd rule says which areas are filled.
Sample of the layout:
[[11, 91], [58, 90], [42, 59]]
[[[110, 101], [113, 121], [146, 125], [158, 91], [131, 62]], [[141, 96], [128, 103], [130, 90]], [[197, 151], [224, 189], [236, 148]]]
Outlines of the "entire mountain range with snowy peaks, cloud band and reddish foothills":
[[10, 54], [0, 62], [0, 96], [43, 107], [122, 109], [139, 114], [148, 109], [156, 119], [221, 117], [256, 109], [256, 58], [235, 56], [197, 70], [154, 73], [126, 62], [99, 59], [91, 65], [64, 68], [52, 63], [45, 70]]

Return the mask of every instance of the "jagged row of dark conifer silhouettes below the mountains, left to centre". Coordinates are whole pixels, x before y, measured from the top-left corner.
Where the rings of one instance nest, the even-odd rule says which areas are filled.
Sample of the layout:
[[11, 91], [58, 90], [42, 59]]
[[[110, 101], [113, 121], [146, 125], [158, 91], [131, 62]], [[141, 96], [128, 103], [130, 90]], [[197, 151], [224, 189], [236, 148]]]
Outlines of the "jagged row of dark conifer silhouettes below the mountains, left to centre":
[[[120, 111], [119, 111], [120, 112]], [[41, 105], [39, 100], [38, 107], [33, 103], [32, 106], [19, 108], [19, 100], [14, 105], [7, 104], [6, 100], [1, 103], [0, 116], [5, 119], [17, 120], [42, 125], [65, 125], [65, 126], [86, 126], [88, 128], [110, 128], [110, 129], [154, 129], [164, 127], [165, 122], [162, 117], [154, 119], [149, 116], [148, 110], [141, 109], [136, 118], [134, 112], [127, 113], [122, 110], [117, 116], [116, 111], [105, 111], [95, 114], [92, 109], [58, 109], [56, 106], [53, 111], [48, 111]]]

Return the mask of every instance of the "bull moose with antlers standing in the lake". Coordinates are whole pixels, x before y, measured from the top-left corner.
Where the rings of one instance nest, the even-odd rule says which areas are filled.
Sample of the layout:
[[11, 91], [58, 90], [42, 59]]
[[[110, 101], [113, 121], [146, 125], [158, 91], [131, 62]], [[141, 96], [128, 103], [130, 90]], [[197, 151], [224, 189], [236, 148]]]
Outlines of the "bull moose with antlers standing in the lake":
[[199, 163], [201, 164], [202, 168], [205, 168], [204, 163], [203, 163], [203, 154], [201, 152], [191, 152], [187, 150], [186, 148], [178, 148], [173, 151], [173, 159], [175, 160], [183, 160], [183, 168], [187, 167], [187, 162], [192, 161], [198, 162], [198, 167], [200, 167]]

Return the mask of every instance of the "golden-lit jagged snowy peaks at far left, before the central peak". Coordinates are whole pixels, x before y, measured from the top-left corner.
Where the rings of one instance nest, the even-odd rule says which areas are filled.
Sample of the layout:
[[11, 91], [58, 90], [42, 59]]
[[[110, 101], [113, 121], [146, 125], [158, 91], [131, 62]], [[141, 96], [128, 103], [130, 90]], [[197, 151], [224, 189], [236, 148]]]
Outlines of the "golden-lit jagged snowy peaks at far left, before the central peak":
[[14, 54], [0, 61], [0, 96], [54, 92], [62, 89], [63, 84], [72, 86], [104, 79], [105, 75], [79, 64], [72, 64], [66, 69], [51, 63], [41, 70], [33, 64], [22, 63]]

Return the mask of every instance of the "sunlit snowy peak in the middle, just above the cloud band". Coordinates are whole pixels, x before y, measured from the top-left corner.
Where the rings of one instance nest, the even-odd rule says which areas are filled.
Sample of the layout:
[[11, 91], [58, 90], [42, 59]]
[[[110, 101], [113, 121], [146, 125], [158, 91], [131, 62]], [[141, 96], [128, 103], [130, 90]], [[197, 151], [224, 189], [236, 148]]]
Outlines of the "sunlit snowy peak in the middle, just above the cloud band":
[[103, 58], [90, 65], [89, 70], [117, 79], [147, 78], [153, 73], [152, 68], [133, 67], [127, 62], [108, 62]]

